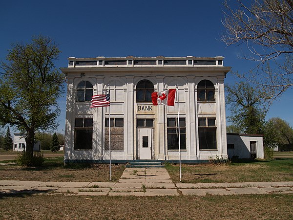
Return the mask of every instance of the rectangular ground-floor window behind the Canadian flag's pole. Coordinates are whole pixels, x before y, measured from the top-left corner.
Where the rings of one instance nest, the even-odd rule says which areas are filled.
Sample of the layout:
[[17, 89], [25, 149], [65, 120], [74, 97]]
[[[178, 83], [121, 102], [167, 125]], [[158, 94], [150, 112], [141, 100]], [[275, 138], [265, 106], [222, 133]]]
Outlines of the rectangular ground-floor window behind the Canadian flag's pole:
[[[186, 123], [185, 118], [179, 119], [180, 149], [186, 150]], [[168, 150], [179, 150], [178, 118], [167, 118], [167, 145]]]

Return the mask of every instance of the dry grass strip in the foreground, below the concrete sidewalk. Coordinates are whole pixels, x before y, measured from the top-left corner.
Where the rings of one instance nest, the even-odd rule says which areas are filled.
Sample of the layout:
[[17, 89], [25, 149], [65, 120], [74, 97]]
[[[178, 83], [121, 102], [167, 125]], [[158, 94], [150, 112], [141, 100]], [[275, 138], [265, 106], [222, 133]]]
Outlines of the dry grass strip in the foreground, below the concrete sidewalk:
[[0, 219], [293, 219], [292, 195], [0, 197]]

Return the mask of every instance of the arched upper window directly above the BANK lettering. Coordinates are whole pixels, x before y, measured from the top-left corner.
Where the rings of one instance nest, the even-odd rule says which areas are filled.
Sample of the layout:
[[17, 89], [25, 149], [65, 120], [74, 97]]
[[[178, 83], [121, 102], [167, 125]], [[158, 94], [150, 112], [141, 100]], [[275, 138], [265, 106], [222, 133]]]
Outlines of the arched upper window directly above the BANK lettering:
[[151, 102], [151, 93], [154, 92], [154, 90], [154, 85], [150, 81], [140, 81], [136, 86], [136, 101]]

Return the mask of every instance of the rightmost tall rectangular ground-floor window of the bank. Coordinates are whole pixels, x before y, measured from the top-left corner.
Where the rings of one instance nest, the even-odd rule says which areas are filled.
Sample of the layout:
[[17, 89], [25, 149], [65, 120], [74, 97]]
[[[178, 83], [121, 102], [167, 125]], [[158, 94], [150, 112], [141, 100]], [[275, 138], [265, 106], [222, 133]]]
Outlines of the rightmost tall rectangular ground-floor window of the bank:
[[198, 118], [199, 150], [217, 149], [217, 128], [215, 118]]

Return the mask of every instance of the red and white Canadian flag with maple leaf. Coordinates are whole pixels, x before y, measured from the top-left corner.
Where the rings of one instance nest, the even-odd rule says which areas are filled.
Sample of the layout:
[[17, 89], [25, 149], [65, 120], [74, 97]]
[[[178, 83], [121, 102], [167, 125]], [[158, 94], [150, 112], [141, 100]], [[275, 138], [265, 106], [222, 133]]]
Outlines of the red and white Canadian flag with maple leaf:
[[176, 88], [170, 88], [162, 92], [151, 93], [151, 99], [154, 106], [167, 105], [174, 106]]

